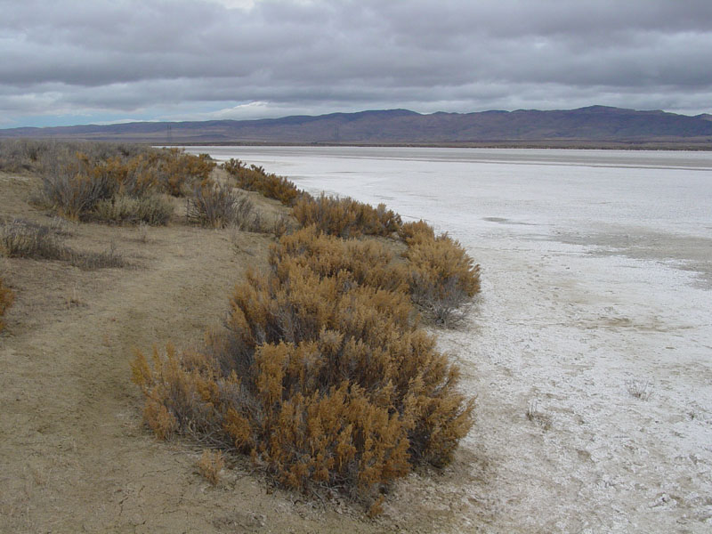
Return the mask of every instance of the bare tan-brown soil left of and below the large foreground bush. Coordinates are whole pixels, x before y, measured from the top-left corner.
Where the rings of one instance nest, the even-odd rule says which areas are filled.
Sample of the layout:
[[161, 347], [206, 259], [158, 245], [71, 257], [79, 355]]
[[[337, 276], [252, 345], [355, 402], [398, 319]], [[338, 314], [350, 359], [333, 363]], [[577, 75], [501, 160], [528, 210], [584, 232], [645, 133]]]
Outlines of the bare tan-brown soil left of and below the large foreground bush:
[[[50, 221], [28, 204], [35, 180], [0, 174], [0, 218]], [[265, 213], [283, 209], [255, 201]], [[69, 231], [70, 247], [101, 252], [113, 243], [131, 266], [80, 271], [0, 258], [0, 275], [17, 294], [0, 334], [0, 532], [462, 529], [458, 506], [472, 503], [458, 488], [477, 465], [466, 452], [444, 472], [397, 484], [385, 513], [371, 520], [340, 498], [322, 503], [274, 490], [240, 458], [214, 487], [198, 474], [197, 444], [157, 441], [142, 425], [142, 397], [130, 381], [134, 350], [198, 344], [206, 328], [221, 328], [231, 287], [247, 267], [264, 267], [273, 238], [190, 227], [180, 217], [150, 228], [145, 240], [129, 227]]]

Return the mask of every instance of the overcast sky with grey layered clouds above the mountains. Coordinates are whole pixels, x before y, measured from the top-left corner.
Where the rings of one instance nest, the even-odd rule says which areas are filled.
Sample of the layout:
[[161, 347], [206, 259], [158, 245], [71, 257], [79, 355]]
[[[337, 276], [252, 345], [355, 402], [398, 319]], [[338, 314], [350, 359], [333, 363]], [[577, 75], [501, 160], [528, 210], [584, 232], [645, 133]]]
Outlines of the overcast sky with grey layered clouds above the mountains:
[[712, 112], [712, 0], [0, 0], [0, 127]]

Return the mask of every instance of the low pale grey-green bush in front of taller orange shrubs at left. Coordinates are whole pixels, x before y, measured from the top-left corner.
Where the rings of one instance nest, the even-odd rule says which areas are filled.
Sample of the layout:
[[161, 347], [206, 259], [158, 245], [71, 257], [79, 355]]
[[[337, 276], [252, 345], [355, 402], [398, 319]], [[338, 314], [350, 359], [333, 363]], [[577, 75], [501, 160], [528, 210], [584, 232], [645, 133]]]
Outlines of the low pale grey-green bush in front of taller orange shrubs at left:
[[174, 212], [172, 203], [160, 195], [148, 195], [140, 198], [117, 195], [96, 203], [90, 218], [101, 223], [139, 224], [164, 226]]

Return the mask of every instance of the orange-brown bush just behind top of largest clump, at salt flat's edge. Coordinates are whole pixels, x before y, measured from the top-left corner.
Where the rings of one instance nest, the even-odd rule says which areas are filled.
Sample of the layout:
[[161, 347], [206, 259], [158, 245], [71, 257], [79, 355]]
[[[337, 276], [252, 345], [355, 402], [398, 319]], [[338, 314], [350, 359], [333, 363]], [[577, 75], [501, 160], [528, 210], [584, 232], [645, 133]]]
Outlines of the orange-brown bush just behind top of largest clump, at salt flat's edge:
[[302, 198], [294, 208], [296, 220], [302, 226], [316, 226], [320, 231], [340, 238], [360, 235], [388, 236], [401, 227], [401, 216], [386, 209], [384, 204], [369, 206], [352, 198]]

